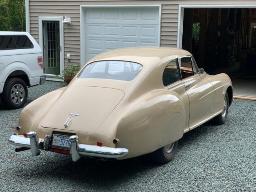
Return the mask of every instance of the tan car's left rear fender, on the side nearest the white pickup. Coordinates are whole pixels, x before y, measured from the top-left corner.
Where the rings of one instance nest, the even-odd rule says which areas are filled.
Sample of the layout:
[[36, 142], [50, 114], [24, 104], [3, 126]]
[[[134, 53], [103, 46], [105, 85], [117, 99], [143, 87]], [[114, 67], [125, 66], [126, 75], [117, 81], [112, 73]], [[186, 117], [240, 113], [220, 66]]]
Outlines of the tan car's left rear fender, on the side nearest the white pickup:
[[19, 126], [21, 129], [19, 134], [27, 133], [32, 130], [37, 132], [40, 122], [65, 88], [66, 87], [54, 90], [28, 104], [20, 114]]

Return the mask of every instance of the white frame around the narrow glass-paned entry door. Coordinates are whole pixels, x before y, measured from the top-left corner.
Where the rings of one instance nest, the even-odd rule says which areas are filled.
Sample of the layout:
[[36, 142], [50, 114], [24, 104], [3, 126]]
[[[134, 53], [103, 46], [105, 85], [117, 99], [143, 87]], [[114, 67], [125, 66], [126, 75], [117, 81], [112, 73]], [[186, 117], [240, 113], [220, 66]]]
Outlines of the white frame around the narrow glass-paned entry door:
[[[60, 72], [64, 70], [64, 30], [63, 30], [63, 17], [62, 16], [38, 16], [38, 34], [39, 34], [39, 46], [42, 49], [42, 55], [44, 55], [43, 52], [43, 21], [59, 21], [60, 22], [60, 46], [61, 46], [61, 52], [60, 52]], [[53, 74], [44, 74], [46, 76], [52, 76], [56, 77], [56, 75]], [[46, 80], [49, 80], [46, 78]], [[55, 78], [56, 81], [63, 81], [62, 78]]]

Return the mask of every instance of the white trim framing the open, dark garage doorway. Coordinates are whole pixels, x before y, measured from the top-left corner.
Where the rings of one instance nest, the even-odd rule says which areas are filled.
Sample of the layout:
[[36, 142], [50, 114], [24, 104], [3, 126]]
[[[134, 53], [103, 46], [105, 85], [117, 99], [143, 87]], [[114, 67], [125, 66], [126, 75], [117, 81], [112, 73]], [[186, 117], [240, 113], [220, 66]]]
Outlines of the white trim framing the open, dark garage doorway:
[[184, 8], [256, 8], [255, 4], [198, 4], [179, 5], [177, 48], [182, 48]]

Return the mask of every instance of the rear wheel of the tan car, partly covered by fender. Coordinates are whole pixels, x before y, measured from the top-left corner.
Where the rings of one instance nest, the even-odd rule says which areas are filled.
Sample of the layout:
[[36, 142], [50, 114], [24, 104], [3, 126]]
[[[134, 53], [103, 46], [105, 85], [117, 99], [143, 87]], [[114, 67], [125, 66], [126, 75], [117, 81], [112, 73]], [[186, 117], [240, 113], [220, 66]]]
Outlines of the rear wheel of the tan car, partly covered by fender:
[[164, 146], [154, 151], [151, 154], [153, 161], [158, 164], [166, 164], [170, 162], [174, 158], [174, 155], [177, 150], [177, 146], [178, 146], [178, 141], [168, 144], [167, 146]]

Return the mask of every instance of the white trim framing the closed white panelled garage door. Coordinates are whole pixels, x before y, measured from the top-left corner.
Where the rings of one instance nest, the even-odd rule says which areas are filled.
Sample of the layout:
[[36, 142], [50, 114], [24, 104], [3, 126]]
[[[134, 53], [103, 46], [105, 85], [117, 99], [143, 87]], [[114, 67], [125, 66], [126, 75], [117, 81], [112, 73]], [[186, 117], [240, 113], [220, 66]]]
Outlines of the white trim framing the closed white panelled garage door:
[[[124, 7], [124, 5], [80, 5], [80, 63], [81, 68], [85, 63], [85, 8], [88, 7]], [[159, 27], [158, 27], [158, 46], [161, 44], [161, 14], [162, 5], [151, 4], [151, 5], [125, 5], [125, 7], [158, 7], [159, 8]]]

